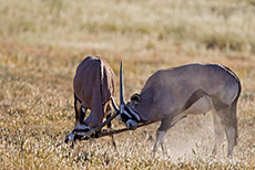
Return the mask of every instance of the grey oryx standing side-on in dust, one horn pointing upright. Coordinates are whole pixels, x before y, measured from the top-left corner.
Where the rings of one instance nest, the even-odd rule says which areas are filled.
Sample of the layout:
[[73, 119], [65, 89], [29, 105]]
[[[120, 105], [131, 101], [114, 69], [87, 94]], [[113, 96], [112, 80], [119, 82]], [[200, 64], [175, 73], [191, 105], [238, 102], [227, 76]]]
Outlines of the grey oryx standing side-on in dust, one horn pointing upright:
[[[122, 65], [120, 74], [122, 77]], [[238, 137], [236, 103], [241, 94], [241, 83], [230, 68], [218, 64], [188, 64], [160, 70], [146, 81], [142, 92], [134, 94], [128, 104], [124, 103], [122, 78], [120, 84], [119, 117], [129, 129], [135, 129], [139, 123], [161, 121], [153, 155], [160, 145], [164, 151], [163, 138], [178, 120], [187, 115], [213, 110], [215, 131], [213, 155], [221, 147], [225, 131], [228, 141], [227, 156], [232, 156]]]

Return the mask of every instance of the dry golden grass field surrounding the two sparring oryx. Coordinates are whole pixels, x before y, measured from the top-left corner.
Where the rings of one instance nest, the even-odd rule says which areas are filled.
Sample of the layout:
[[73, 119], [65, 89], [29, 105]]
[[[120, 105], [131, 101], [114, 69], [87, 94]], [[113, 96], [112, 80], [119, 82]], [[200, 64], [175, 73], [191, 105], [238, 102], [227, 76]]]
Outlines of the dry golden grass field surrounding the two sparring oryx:
[[[72, 79], [88, 55], [116, 75], [125, 99], [160, 68], [220, 63], [242, 82], [238, 145], [216, 158], [212, 117], [190, 116], [169, 130], [155, 159], [159, 124], [64, 144], [73, 129]], [[119, 120], [113, 128], [124, 127]], [[0, 0], [0, 169], [255, 169], [254, 0]]]

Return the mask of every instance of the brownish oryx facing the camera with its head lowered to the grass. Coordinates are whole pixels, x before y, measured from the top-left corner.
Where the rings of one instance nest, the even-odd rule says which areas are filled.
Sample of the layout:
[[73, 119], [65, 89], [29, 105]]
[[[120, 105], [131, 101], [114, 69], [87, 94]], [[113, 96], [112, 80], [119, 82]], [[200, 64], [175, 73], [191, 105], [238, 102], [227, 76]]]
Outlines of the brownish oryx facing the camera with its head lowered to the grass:
[[[79, 64], [73, 79], [75, 128], [65, 137], [65, 142], [82, 137], [100, 125], [105, 115], [111, 116], [110, 100], [114, 93], [114, 84], [115, 75], [103, 59], [88, 56]], [[84, 120], [88, 109], [91, 114]], [[111, 124], [108, 126], [110, 128]], [[115, 146], [114, 140], [113, 145]]]

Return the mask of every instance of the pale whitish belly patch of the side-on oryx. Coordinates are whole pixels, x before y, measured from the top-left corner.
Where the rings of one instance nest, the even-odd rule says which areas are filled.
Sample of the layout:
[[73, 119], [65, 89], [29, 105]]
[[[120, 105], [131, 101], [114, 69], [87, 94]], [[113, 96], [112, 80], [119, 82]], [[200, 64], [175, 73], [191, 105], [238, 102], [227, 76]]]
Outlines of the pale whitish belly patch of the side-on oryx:
[[186, 111], [186, 115], [206, 114], [213, 108], [212, 100], [204, 96], [195, 102]]

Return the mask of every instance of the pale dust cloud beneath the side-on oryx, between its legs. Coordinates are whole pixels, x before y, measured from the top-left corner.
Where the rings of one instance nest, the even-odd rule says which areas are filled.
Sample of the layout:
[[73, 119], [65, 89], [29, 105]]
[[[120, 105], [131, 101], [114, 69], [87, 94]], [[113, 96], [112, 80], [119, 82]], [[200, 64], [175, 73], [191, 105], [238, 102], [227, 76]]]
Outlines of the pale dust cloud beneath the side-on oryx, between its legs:
[[[212, 113], [187, 116], [178, 121], [165, 135], [164, 146], [167, 149], [167, 157], [173, 162], [186, 161], [194, 158], [210, 159], [214, 147]], [[217, 157], [226, 155], [225, 146], [226, 139], [223, 141]], [[164, 157], [161, 149], [159, 149], [157, 155], [162, 158]]]

